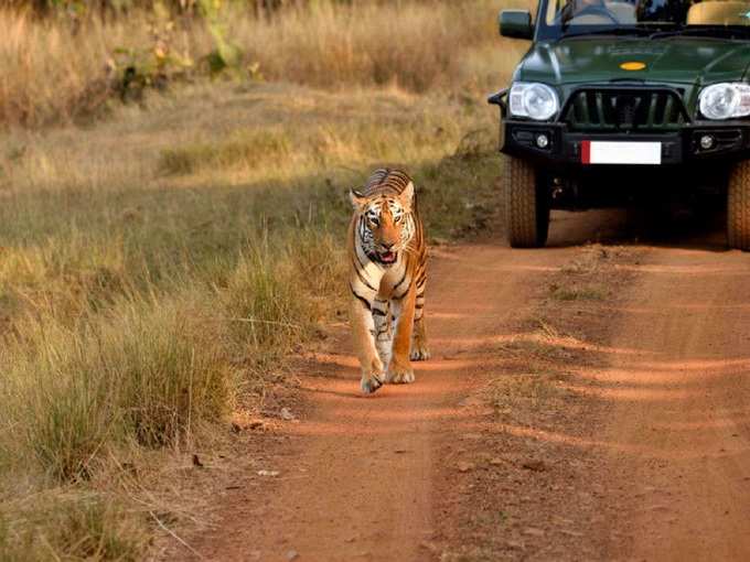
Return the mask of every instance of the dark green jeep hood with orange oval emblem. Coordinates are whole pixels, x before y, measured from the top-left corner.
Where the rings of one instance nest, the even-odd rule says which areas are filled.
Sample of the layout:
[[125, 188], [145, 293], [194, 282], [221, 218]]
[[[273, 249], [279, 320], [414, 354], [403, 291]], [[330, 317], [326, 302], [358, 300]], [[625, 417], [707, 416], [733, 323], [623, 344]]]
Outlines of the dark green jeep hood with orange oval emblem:
[[[622, 63], [645, 64], [624, 71]], [[636, 80], [700, 87], [747, 77], [750, 42], [705, 37], [578, 37], [535, 43], [516, 68], [514, 80], [556, 86]]]

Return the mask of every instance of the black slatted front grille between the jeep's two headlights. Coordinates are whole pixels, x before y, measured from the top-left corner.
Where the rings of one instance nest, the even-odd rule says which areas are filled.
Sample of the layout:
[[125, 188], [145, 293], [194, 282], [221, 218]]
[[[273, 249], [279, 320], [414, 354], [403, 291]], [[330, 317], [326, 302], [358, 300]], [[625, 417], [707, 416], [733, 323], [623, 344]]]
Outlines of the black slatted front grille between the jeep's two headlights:
[[689, 121], [682, 94], [671, 88], [581, 88], [570, 95], [560, 116], [574, 131], [667, 132]]

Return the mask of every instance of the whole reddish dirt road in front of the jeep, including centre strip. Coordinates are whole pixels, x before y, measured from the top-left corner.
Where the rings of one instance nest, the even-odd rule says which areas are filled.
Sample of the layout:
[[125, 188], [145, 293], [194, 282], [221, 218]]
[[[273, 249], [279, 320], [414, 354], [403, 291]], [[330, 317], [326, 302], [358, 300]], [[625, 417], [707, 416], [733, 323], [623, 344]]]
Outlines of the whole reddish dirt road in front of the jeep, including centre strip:
[[415, 385], [361, 397], [343, 328], [300, 363], [300, 419], [251, 437], [253, 471], [217, 496], [217, 525], [192, 549], [750, 558], [750, 257], [712, 239], [592, 250], [624, 217], [555, 218], [545, 250], [433, 252], [435, 359]]

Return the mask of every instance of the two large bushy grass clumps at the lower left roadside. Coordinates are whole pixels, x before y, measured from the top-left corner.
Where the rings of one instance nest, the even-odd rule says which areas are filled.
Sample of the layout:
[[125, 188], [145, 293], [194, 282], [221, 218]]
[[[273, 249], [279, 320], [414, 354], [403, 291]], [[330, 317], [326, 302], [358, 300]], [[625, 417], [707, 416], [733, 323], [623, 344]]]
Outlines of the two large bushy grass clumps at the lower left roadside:
[[232, 376], [222, 346], [211, 345], [221, 334], [201, 321], [161, 300], [117, 305], [79, 328], [54, 317], [17, 325], [0, 355], [0, 396], [18, 404], [0, 454], [21, 445], [71, 482], [88, 478], [113, 445], [174, 444], [193, 424], [219, 419]]

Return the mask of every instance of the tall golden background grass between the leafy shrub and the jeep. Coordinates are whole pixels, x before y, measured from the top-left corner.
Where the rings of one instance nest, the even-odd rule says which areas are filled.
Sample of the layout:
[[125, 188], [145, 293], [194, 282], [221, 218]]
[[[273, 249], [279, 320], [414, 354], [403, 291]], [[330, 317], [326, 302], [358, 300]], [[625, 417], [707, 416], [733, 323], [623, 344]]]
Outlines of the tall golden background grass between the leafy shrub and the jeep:
[[266, 25], [239, 20], [233, 36], [261, 72], [315, 86], [396, 83], [453, 88], [462, 58], [495, 39], [491, 2], [318, 2], [285, 10]]

